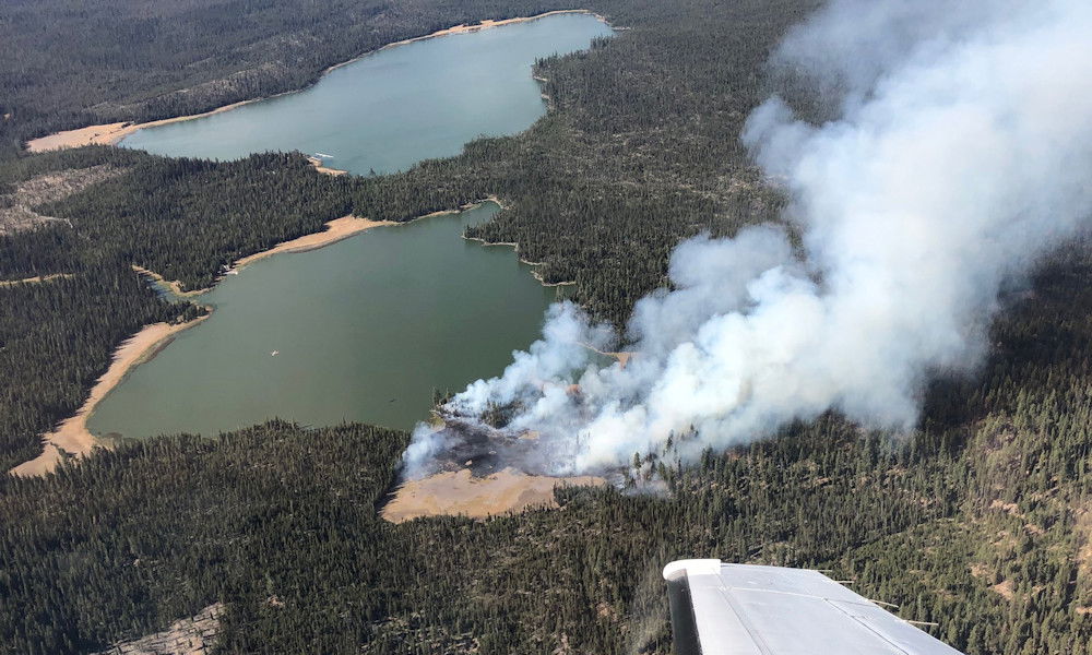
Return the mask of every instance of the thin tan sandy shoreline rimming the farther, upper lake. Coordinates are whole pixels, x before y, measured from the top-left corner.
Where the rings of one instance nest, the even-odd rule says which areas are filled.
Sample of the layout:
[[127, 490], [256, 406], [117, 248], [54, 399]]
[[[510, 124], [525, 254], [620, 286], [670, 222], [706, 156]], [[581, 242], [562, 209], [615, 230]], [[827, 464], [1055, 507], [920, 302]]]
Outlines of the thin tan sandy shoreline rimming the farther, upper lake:
[[[359, 55], [357, 57], [354, 57], [354, 58], [352, 58], [352, 59], [349, 59], [347, 61], [343, 61], [341, 63], [335, 63], [334, 66], [331, 66], [330, 68], [325, 69], [324, 71], [322, 71], [319, 74], [319, 80], [321, 80], [322, 78], [324, 78], [331, 71], [337, 70], [337, 69], [340, 69], [340, 68], [342, 68], [344, 66], [348, 66], [351, 63], [359, 61], [360, 59], [364, 59], [365, 57], [368, 57], [368, 56], [373, 55], [376, 52], [379, 52], [381, 50], [385, 50], [388, 48], [395, 48], [397, 46], [404, 46], [404, 45], [407, 45], [407, 44], [413, 44], [413, 43], [425, 40], [425, 39], [429, 39], [429, 38], [437, 38], [437, 37], [440, 37], [440, 36], [450, 36], [450, 35], [453, 35], [453, 34], [466, 34], [466, 33], [471, 33], [471, 32], [478, 32], [480, 29], [488, 29], [488, 28], [491, 28], [491, 27], [501, 27], [503, 25], [512, 25], [512, 24], [515, 24], [515, 23], [527, 23], [527, 22], [531, 22], [531, 21], [537, 21], [537, 20], [541, 20], [541, 19], [545, 19], [545, 17], [551, 16], [551, 15], [570, 14], [570, 13], [580, 13], [580, 14], [593, 15], [596, 19], [598, 19], [600, 21], [603, 21], [604, 23], [606, 23], [606, 19], [604, 16], [602, 16], [602, 15], [600, 15], [597, 13], [594, 13], [592, 11], [589, 11], [586, 9], [560, 9], [560, 10], [556, 10], [556, 11], [547, 11], [545, 13], [536, 14], [536, 15], [533, 15], [533, 16], [521, 16], [521, 17], [515, 17], [515, 19], [503, 19], [503, 20], [500, 20], [500, 21], [494, 21], [494, 20], [490, 20], [490, 19], [486, 19], [486, 20], [482, 21], [480, 23], [478, 23], [476, 25], [466, 25], [466, 24], [454, 25], [452, 27], [448, 27], [448, 28], [444, 28], [444, 29], [438, 29], [438, 31], [434, 32], [432, 34], [426, 34], [424, 36], [415, 36], [413, 38], [402, 39], [402, 40], [399, 40], [399, 41], [387, 44], [387, 45], [381, 46], [381, 47], [379, 47], [379, 48], [377, 48], [375, 50], [368, 50], [367, 52], [364, 52], [364, 53], [361, 53], [361, 55]], [[193, 120], [195, 118], [204, 118], [206, 116], [213, 116], [214, 114], [221, 114], [223, 111], [230, 111], [232, 109], [236, 109], [238, 107], [241, 107], [244, 105], [249, 105], [251, 103], [260, 103], [261, 100], [268, 100], [268, 99], [275, 98], [275, 97], [278, 97], [278, 96], [282, 96], [282, 95], [288, 95], [288, 94], [292, 94], [292, 93], [299, 93], [300, 91], [305, 91], [305, 90], [309, 88], [312, 84], [317, 84], [317, 83], [318, 83], [318, 80], [316, 80], [316, 82], [313, 82], [311, 84], [308, 84], [307, 86], [304, 86], [301, 88], [297, 88], [297, 90], [293, 90], [293, 91], [286, 91], [284, 93], [275, 94], [275, 95], [272, 95], [272, 96], [262, 96], [262, 97], [258, 97], [258, 98], [251, 98], [251, 99], [248, 99], [248, 100], [239, 100], [238, 103], [232, 103], [230, 105], [224, 105], [223, 107], [217, 107], [215, 109], [211, 109], [209, 111], [203, 111], [201, 114], [191, 114], [189, 116], [176, 116], [174, 118], [161, 118], [158, 120], [152, 120], [152, 121], [142, 122], [142, 123], [134, 123], [132, 121], [123, 121], [123, 122], [114, 122], [114, 123], [103, 123], [103, 124], [98, 124], [98, 126], [87, 126], [85, 128], [78, 128], [78, 129], [74, 129], [74, 130], [63, 130], [61, 132], [55, 132], [52, 134], [47, 134], [46, 136], [39, 136], [37, 139], [32, 139], [31, 141], [27, 141], [26, 142], [26, 150], [28, 152], [32, 152], [32, 153], [40, 153], [40, 152], [52, 151], [52, 150], [64, 150], [64, 148], [70, 148], [70, 147], [81, 147], [81, 146], [84, 146], [84, 145], [117, 145], [118, 142], [120, 142], [126, 136], [132, 134], [133, 132], [136, 132], [138, 130], [143, 130], [144, 128], [154, 128], [154, 127], [165, 126], [165, 124], [174, 123], [174, 122], [181, 122], [181, 121], [186, 121], [186, 120]], [[311, 157], [309, 157], [309, 158], [311, 158]], [[319, 162], [318, 164], [316, 164], [313, 159], [312, 159], [312, 164], [316, 166], [316, 168], [320, 172], [327, 172], [327, 174], [330, 174], [330, 175], [343, 175], [345, 172], [344, 170], [339, 170], [336, 168], [327, 168], [327, 167], [322, 166], [321, 162]]]

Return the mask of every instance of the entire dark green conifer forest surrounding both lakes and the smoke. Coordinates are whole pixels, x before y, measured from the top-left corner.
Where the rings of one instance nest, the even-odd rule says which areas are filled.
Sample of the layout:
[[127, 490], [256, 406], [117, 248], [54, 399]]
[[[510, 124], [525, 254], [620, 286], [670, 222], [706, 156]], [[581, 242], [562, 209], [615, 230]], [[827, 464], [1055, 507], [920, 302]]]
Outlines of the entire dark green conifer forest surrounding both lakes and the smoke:
[[[405, 221], [489, 194], [471, 236], [519, 241], [547, 282], [621, 321], [702, 230], [776, 216], [738, 143], [762, 62], [815, 0], [597, 0], [628, 29], [539, 62], [530, 131], [399, 175], [322, 176], [296, 154], [237, 163], [91, 147], [51, 130], [210, 109], [312, 82], [384, 43], [521, 0], [16, 2], [0, 10], [0, 207], [38, 176], [111, 175], [0, 235], [0, 467], [82, 403], [141, 325], [192, 317], [130, 265], [213, 283], [238, 257], [349, 212]], [[108, 35], [108, 36], [104, 36]], [[57, 48], [62, 40], [66, 48]], [[9, 200], [4, 200], [9, 199]], [[653, 468], [664, 495], [561, 492], [563, 511], [473, 522], [377, 517], [407, 437], [269, 424], [128, 443], [46, 479], [0, 478], [0, 653], [81, 653], [226, 603], [225, 653], [668, 653], [658, 570], [675, 557], [807, 565], [936, 621], [972, 655], [1092, 643], [1092, 294], [1061, 253], [994, 327], [971, 379], [938, 380], [921, 428], [838, 416]]]

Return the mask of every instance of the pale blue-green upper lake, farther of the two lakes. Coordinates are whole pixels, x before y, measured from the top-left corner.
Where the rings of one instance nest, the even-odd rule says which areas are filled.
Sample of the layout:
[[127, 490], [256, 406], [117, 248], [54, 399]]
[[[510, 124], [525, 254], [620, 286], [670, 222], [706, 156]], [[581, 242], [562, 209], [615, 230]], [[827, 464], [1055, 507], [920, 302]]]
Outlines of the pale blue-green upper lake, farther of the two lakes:
[[402, 170], [479, 135], [527, 129], [545, 111], [535, 59], [609, 34], [594, 16], [559, 14], [387, 48], [300, 93], [144, 129], [121, 145], [216, 159], [296, 150], [361, 175]]

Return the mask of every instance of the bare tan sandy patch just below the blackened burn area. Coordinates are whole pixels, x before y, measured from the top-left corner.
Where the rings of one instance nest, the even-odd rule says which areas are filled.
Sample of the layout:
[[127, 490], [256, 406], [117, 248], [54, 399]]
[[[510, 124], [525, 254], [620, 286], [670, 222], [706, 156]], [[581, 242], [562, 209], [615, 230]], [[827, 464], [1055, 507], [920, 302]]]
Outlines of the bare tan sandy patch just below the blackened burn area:
[[526, 475], [514, 468], [473, 477], [468, 468], [463, 468], [403, 484], [383, 508], [382, 516], [392, 523], [402, 523], [420, 516], [486, 519], [534, 508], [556, 509], [555, 487], [605, 484], [603, 478], [593, 476], [557, 478]]

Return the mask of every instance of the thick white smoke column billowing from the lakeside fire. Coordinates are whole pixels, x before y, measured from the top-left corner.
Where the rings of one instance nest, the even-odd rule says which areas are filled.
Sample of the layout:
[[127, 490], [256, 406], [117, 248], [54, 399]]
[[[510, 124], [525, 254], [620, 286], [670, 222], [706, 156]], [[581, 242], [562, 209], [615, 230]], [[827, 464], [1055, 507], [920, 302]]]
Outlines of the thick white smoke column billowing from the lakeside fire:
[[[541, 341], [448, 410], [514, 402], [509, 428], [541, 432], [554, 472], [575, 473], [682, 433], [693, 457], [830, 408], [912, 428], [930, 374], [981, 362], [1000, 290], [1089, 223], [1092, 3], [836, 0], [772, 66], [827, 103], [817, 126], [771, 97], [744, 133], [803, 248], [769, 225], [685, 241], [672, 289], [634, 309], [629, 366], [584, 347], [614, 337], [558, 305]], [[443, 446], [419, 427], [410, 471]]]

